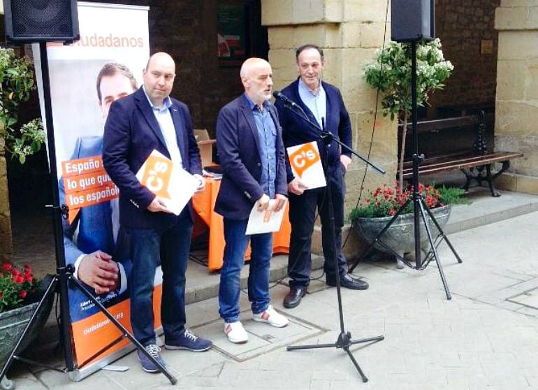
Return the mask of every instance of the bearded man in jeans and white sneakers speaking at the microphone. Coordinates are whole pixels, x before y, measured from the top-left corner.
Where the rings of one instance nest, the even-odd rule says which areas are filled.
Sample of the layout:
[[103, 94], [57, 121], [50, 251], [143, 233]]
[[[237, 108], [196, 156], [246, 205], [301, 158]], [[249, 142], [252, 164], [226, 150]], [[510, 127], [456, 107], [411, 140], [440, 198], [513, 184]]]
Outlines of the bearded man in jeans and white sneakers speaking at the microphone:
[[[249, 301], [254, 321], [282, 327], [288, 319], [270, 305], [269, 266], [272, 233], [246, 235], [250, 212], [256, 204], [262, 212], [275, 198], [275, 210], [286, 203], [286, 167], [282, 129], [269, 99], [271, 66], [266, 60], [249, 58], [241, 66], [245, 94], [226, 104], [217, 118], [217, 150], [223, 168], [215, 211], [224, 217], [224, 259], [219, 287], [219, 314], [231, 342], [247, 342], [239, 320], [240, 272], [247, 245]], [[273, 203], [273, 202], [271, 202]]]

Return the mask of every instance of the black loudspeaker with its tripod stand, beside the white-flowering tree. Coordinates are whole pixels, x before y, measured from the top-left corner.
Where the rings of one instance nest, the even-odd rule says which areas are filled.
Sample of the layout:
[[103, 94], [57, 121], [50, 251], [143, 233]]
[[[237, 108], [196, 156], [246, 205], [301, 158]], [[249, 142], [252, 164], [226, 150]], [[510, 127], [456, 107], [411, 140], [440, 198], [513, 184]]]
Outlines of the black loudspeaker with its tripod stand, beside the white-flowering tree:
[[[424, 159], [423, 154], [419, 154], [419, 135], [416, 131], [416, 44], [421, 41], [433, 41], [435, 38], [435, 28], [434, 28], [434, 0], [392, 0], [391, 3], [391, 15], [392, 15], [392, 29], [391, 29], [391, 38], [396, 42], [409, 43], [411, 45], [411, 96], [412, 96], [412, 138], [413, 138], [413, 194], [407, 198], [407, 201], [398, 209], [395, 215], [391, 220], [386, 224], [386, 226], [379, 232], [379, 234], [372, 240], [372, 243], [368, 245], [366, 250], [361, 254], [360, 257], [355, 261], [353, 266], [349, 268], [349, 272], [353, 272], [357, 264], [364, 259], [370, 251], [374, 249], [376, 245], [381, 245], [391, 252], [395, 257], [400, 259], [406, 266], [409, 268], [414, 268], [416, 270], [425, 269], [430, 261], [435, 260], [437, 263], [437, 268], [439, 270], [439, 275], [442, 280], [444, 287], [444, 292], [446, 293], [446, 299], [451, 299], [449, 285], [446, 282], [446, 277], [444, 276], [443, 267], [441, 261], [439, 261], [439, 255], [437, 254], [437, 245], [441, 243], [441, 240], [444, 240], [449, 246], [450, 250], [453, 252], [454, 256], [458, 260], [458, 263], [462, 262], [462, 259], [452, 246], [449, 241], [449, 238], [446, 237], [446, 234], [442, 230], [439, 223], [433, 216], [432, 212], [424, 203], [421, 192], [419, 191], [419, 165]], [[396, 253], [391, 247], [386, 245], [382, 238], [384, 233], [388, 228], [396, 221], [400, 216], [406, 206], [413, 202], [413, 215], [414, 215], [414, 247], [415, 247], [415, 265], [407, 261], [400, 254]], [[430, 230], [430, 225], [428, 222], [431, 221], [437, 230], [439, 235], [436, 238], [432, 237], [432, 232]], [[421, 222], [424, 224], [426, 229], [426, 235], [428, 236], [428, 241], [430, 243], [430, 250], [426, 254], [426, 258], [422, 261], [421, 253]], [[437, 238], [441, 237], [441, 240]]]

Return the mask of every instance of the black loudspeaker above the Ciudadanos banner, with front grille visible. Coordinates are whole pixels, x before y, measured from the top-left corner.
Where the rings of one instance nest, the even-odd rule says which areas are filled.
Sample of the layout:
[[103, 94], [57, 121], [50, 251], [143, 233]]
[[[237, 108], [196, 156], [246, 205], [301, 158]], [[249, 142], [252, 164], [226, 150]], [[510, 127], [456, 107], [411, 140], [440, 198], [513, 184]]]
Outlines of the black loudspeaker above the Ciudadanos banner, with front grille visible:
[[6, 40], [78, 41], [77, 0], [3, 0]]

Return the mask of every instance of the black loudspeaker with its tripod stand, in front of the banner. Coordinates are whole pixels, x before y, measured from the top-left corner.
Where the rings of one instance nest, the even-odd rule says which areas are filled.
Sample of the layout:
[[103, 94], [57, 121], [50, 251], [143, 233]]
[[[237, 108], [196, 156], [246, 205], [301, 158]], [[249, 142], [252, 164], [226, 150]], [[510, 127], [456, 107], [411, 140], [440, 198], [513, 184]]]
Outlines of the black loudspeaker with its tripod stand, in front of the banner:
[[[145, 356], [150, 359], [158, 370], [163, 373], [172, 384], [177, 383], [177, 379], [149, 354], [143, 345], [134, 338], [131, 333], [108, 312], [108, 310], [97, 301], [96, 297], [73, 276], [75, 267], [72, 264], [66, 265], [64, 252], [64, 231], [61, 219], [68, 217], [68, 207], [59, 204], [58, 193], [58, 173], [56, 168], [56, 147], [54, 144], [54, 125], [52, 120], [52, 101], [50, 98], [50, 77], [47, 55], [47, 42], [59, 41], [66, 44], [73, 43], [80, 38], [78, 31], [78, 8], [76, 0], [4, 0], [3, 1], [6, 24], [6, 40], [12, 43], [39, 43], [39, 53], [41, 57], [41, 75], [43, 78], [43, 102], [45, 106], [45, 124], [47, 129], [48, 159], [50, 166], [50, 178], [52, 185], [52, 205], [47, 207], [52, 209], [52, 223], [54, 226], [54, 249], [56, 252], [56, 274], [52, 276], [43, 298], [38, 303], [38, 307], [31, 315], [28, 324], [20, 335], [19, 340], [11, 351], [6, 363], [0, 371], [0, 387], [11, 387], [13, 383], [1, 382], [14, 360], [23, 361], [34, 366], [41, 366], [57, 370], [61, 373], [71, 373], [77, 368], [82, 368], [93, 359], [106, 352], [124, 338], [128, 338], [131, 343]], [[103, 347], [93, 356], [82, 363], [75, 364], [73, 355], [73, 345], [71, 338], [71, 316], [69, 313], [68, 284], [75, 286], [82, 291], [82, 294], [96, 305], [112, 324], [120, 331], [120, 335]], [[45, 308], [46, 302], [52, 294], [59, 293], [60, 302], [60, 333], [61, 345], [64, 352], [65, 368], [55, 368], [44, 363], [25, 359], [17, 356], [17, 349], [22, 345], [22, 341], [28, 337], [29, 329], [38, 319], [38, 315]]]

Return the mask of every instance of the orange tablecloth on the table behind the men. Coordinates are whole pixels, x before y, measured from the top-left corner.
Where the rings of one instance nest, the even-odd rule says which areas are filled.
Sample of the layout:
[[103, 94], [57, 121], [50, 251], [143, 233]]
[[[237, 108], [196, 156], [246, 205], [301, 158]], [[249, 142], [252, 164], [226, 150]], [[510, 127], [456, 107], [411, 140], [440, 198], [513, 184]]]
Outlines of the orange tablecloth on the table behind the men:
[[[213, 211], [215, 200], [219, 193], [220, 180], [205, 180], [205, 189], [192, 198], [194, 210], [199, 217], [209, 226], [209, 243], [208, 243], [208, 268], [209, 270], [219, 270], [222, 268], [222, 257], [224, 254], [224, 223], [221, 215]], [[289, 217], [288, 205], [280, 230], [273, 234], [272, 252], [289, 253]], [[250, 247], [247, 249], [245, 259], [250, 259]]]

